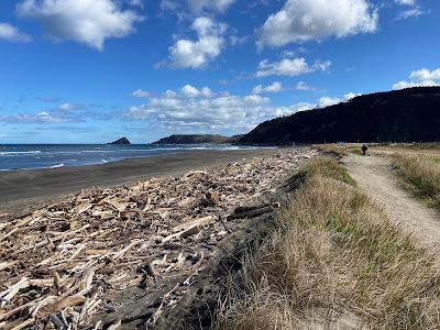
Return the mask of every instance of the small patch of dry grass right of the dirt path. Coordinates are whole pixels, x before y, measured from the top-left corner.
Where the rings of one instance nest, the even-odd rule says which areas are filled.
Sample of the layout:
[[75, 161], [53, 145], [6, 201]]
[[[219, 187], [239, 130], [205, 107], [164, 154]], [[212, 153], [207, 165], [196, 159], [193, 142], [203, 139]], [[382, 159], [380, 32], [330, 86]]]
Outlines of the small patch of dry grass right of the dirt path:
[[393, 166], [416, 196], [431, 207], [440, 209], [440, 157], [396, 153]]

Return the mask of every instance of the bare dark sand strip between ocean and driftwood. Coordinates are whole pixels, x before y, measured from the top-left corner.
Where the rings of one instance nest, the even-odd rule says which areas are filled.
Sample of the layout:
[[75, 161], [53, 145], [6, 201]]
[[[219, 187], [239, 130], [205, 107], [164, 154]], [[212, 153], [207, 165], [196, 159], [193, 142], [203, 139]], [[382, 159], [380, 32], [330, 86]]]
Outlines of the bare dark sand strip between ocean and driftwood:
[[24, 211], [81, 188], [130, 185], [153, 176], [180, 176], [190, 169], [275, 152], [276, 148], [194, 151], [100, 165], [0, 172], [0, 215]]

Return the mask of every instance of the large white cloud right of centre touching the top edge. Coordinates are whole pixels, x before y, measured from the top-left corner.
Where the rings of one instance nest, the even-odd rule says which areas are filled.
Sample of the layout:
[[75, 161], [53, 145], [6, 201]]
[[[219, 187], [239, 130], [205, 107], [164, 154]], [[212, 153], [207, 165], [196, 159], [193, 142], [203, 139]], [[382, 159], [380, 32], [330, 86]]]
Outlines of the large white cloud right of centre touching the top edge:
[[261, 29], [258, 46], [372, 33], [378, 14], [367, 0], [287, 0]]

